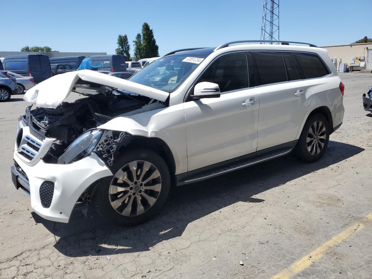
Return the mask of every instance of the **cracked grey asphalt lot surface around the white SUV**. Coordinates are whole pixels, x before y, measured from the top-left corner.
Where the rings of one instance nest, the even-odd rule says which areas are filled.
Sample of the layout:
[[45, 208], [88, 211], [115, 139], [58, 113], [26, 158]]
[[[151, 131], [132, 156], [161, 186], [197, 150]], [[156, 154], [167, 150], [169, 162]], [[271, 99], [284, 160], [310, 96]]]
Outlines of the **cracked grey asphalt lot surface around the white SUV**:
[[10, 178], [17, 116], [28, 103], [22, 95], [0, 103], [0, 279], [271, 278], [355, 224], [286, 278], [372, 278], [372, 117], [361, 98], [372, 75], [340, 77], [344, 122], [320, 161], [288, 155], [180, 187], [137, 227], [76, 210], [56, 223], [58, 244], [54, 223], [32, 212]]

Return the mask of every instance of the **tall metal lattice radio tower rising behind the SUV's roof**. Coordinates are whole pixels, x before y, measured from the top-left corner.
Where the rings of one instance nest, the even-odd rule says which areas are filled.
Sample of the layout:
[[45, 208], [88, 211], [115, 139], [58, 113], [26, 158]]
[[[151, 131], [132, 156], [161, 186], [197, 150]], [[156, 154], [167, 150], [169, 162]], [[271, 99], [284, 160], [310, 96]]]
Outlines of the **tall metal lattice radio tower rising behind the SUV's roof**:
[[279, 41], [279, 0], [263, 0], [261, 40]]

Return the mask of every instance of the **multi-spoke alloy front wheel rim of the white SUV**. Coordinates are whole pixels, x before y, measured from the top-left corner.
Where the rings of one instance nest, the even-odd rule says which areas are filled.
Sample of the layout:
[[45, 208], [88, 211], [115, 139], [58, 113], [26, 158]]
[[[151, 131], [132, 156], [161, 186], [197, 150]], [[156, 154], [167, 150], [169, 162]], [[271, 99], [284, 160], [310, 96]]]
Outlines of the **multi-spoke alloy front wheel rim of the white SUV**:
[[125, 164], [113, 176], [109, 201], [113, 209], [126, 217], [146, 212], [161, 191], [161, 176], [150, 162], [137, 160]]

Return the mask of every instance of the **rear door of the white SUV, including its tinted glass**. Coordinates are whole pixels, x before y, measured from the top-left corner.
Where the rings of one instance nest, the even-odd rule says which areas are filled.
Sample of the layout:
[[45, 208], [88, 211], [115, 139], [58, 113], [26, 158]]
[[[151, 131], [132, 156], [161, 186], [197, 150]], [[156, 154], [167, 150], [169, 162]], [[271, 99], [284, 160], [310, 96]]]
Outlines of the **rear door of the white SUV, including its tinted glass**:
[[280, 51], [251, 54], [260, 94], [259, 151], [296, 139], [313, 95], [293, 54]]

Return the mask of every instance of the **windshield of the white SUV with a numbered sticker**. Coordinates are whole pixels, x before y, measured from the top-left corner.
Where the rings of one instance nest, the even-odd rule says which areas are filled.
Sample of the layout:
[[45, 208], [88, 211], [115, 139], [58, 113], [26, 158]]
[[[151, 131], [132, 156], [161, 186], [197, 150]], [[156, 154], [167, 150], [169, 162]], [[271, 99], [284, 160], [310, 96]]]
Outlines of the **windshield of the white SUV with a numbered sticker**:
[[173, 92], [207, 56], [208, 54], [185, 54], [159, 58], [128, 80], [166, 92]]

